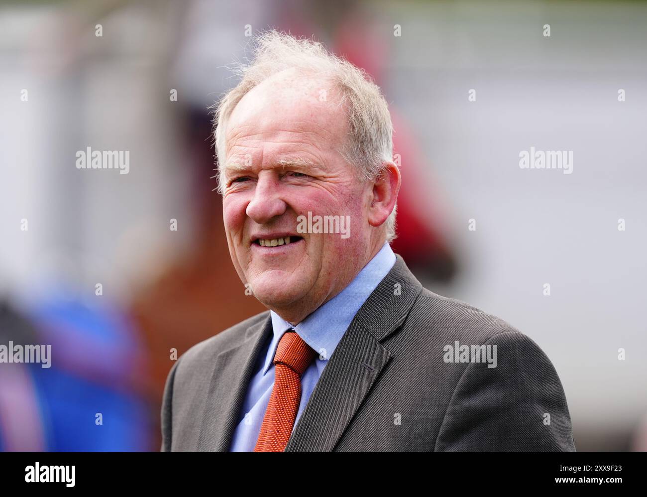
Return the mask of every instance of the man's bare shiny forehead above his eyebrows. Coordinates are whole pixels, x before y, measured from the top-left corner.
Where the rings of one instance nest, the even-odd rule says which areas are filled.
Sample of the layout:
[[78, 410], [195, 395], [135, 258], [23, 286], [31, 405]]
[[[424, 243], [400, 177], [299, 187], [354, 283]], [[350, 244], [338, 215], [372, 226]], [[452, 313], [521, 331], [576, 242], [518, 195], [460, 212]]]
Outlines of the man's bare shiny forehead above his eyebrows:
[[339, 148], [347, 133], [346, 116], [330, 80], [283, 71], [238, 102], [226, 124], [226, 149], [254, 142]]

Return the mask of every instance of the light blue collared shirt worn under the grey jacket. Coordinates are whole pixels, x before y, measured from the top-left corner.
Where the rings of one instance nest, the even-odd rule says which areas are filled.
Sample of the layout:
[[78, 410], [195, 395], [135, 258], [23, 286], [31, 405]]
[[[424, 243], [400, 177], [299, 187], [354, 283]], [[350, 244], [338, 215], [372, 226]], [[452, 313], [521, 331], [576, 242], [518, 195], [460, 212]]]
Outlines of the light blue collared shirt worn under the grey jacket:
[[394, 264], [395, 254], [389, 244], [385, 243], [344, 290], [296, 326], [292, 326], [274, 311], [270, 311], [274, 336], [259, 354], [256, 369], [241, 408], [239, 423], [234, 431], [230, 452], [253, 452], [256, 447], [263, 417], [274, 387], [274, 353], [283, 333], [294, 329], [305, 343], [319, 354], [301, 377], [301, 401], [294, 420], [294, 426], [296, 426], [323, 368], [333, 355], [346, 329]]

